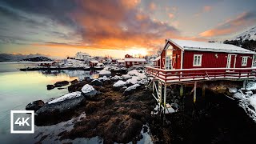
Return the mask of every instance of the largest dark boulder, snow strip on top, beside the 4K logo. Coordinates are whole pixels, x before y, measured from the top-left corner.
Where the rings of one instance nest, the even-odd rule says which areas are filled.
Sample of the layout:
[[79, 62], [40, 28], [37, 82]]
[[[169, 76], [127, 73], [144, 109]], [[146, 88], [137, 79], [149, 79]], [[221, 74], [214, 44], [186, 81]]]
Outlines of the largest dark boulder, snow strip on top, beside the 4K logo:
[[85, 102], [81, 92], [73, 92], [56, 98], [42, 106], [34, 115], [36, 126], [49, 126], [66, 121], [74, 115], [74, 110]]

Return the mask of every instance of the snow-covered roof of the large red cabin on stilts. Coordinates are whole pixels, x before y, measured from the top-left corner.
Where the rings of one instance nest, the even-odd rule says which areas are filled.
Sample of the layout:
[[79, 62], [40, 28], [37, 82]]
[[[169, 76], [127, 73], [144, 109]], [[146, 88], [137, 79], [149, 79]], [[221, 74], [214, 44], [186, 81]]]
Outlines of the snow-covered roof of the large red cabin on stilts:
[[170, 42], [181, 47], [183, 50], [213, 51], [239, 54], [256, 54], [239, 46], [215, 42], [198, 42], [190, 40], [169, 39]]

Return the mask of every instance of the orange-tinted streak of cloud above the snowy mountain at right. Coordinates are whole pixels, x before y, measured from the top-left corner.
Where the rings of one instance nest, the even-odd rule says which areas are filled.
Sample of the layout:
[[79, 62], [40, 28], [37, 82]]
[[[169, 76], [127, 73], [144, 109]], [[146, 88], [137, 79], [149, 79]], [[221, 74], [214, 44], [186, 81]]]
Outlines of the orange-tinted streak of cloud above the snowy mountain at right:
[[239, 30], [243, 30], [246, 26], [253, 26], [256, 22], [255, 12], [244, 12], [236, 18], [228, 19], [226, 22], [218, 24], [217, 27], [211, 30], [206, 30], [199, 35], [202, 37], [214, 37], [232, 34]]

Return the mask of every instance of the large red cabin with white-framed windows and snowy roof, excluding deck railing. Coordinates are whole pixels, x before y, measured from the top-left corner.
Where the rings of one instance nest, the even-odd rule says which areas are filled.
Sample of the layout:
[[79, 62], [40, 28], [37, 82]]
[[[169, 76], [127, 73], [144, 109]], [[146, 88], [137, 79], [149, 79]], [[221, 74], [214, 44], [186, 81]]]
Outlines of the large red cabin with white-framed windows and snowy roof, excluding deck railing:
[[161, 69], [246, 68], [255, 52], [242, 47], [189, 40], [168, 39], [161, 53]]

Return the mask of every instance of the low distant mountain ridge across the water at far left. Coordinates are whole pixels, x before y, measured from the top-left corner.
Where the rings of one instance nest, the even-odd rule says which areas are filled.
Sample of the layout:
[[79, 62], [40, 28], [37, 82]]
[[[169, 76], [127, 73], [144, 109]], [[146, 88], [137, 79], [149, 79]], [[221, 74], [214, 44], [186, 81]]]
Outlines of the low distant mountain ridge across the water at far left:
[[46, 57], [43, 54], [0, 54], [0, 62], [18, 62], [26, 58]]

